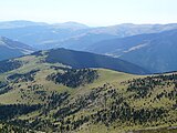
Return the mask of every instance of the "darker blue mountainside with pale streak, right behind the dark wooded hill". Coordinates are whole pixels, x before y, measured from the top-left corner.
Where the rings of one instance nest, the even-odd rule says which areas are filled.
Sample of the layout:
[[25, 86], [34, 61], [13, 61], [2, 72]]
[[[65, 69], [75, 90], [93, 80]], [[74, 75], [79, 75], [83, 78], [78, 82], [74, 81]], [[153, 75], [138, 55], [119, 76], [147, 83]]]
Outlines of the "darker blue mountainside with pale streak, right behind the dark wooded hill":
[[158, 73], [177, 70], [176, 49], [177, 30], [170, 30], [101, 41], [88, 51], [117, 57]]

